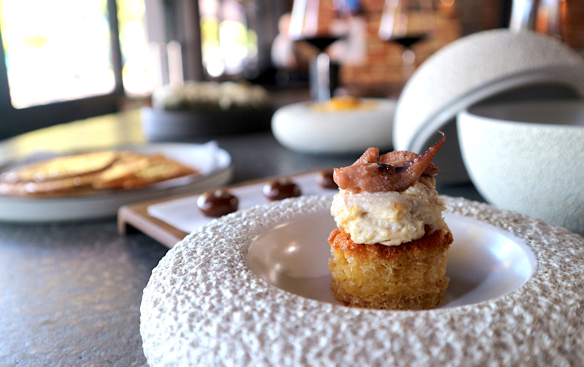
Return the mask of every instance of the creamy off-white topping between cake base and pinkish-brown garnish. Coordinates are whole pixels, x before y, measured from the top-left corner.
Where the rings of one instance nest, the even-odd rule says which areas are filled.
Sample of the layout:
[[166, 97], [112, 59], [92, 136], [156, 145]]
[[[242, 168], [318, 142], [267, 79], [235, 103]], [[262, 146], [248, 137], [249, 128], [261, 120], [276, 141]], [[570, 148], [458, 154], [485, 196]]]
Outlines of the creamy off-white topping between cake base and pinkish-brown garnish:
[[434, 177], [422, 176], [403, 191], [350, 193], [340, 190], [331, 205], [336, 225], [355, 243], [397, 246], [430, 232], [447, 229], [442, 218], [446, 209], [438, 197]]

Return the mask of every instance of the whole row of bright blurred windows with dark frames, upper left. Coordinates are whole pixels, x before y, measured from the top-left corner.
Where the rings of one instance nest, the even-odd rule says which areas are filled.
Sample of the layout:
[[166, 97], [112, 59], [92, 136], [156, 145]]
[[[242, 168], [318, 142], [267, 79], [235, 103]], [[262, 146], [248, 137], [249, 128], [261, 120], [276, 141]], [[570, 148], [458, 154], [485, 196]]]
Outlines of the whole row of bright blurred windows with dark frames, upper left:
[[[0, 0], [0, 139], [270, 67], [290, 0]], [[261, 32], [255, 32], [260, 30]]]

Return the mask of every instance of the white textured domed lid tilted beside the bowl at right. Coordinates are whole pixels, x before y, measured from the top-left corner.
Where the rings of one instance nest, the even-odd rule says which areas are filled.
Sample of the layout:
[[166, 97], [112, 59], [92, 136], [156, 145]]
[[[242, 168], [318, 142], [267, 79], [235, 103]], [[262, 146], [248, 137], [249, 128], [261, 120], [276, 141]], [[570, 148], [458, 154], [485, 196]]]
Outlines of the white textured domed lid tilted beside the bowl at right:
[[468, 181], [458, 147], [456, 114], [487, 99], [584, 96], [584, 60], [561, 41], [507, 29], [478, 32], [441, 48], [420, 65], [399, 96], [396, 150], [422, 153], [446, 132], [434, 158], [449, 183]]

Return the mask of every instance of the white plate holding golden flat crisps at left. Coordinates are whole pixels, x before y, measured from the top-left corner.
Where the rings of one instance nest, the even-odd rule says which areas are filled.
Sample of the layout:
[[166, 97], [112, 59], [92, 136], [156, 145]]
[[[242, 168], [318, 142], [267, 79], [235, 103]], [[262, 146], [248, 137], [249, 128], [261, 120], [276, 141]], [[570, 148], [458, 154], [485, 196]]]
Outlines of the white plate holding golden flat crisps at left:
[[147, 144], [119, 149], [159, 152], [198, 169], [201, 175], [179, 177], [135, 190], [107, 190], [77, 196], [22, 198], [0, 195], [0, 221], [62, 222], [106, 218], [115, 216], [121, 205], [221, 186], [232, 175], [231, 156], [215, 142]]

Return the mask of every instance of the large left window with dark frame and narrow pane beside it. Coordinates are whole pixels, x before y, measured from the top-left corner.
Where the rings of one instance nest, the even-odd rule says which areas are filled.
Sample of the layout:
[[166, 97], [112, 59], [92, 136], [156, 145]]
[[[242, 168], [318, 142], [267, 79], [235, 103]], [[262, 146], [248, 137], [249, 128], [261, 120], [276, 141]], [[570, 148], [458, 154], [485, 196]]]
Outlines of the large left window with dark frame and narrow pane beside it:
[[143, 22], [144, 0], [0, 0], [0, 138], [149, 95]]

